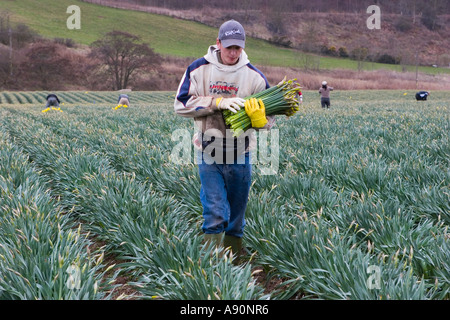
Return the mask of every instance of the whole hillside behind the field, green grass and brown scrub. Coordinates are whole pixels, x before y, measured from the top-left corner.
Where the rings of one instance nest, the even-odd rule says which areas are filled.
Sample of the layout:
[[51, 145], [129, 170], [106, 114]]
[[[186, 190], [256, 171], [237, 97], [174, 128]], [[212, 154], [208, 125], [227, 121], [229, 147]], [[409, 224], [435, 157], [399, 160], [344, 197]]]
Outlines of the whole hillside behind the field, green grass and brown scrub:
[[[420, 84], [442, 90], [450, 82], [448, 1], [73, 2], [83, 7], [84, 20], [82, 30], [72, 33], [64, 31], [65, 14], [50, 21], [49, 12], [42, 17], [33, 13], [40, 10], [35, 2], [5, 3], [13, 11], [0, 9], [0, 88], [175, 90], [186, 66], [213, 43], [220, 24], [232, 18], [245, 25], [252, 62], [272, 83], [284, 75], [298, 78], [299, 73], [305, 89], [315, 88], [325, 76], [341, 89], [415, 89]], [[379, 30], [366, 25], [366, 9], [373, 2], [381, 8]], [[65, 13], [68, 3], [51, 2], [49, 10]], [[39, 19], [47, 19], [48, 26], [41, 28]], [[130, 75], [126, 70], [113, 75], [95, 45], [117, 29], [151, 50], [132, 59], [145, 65]]]

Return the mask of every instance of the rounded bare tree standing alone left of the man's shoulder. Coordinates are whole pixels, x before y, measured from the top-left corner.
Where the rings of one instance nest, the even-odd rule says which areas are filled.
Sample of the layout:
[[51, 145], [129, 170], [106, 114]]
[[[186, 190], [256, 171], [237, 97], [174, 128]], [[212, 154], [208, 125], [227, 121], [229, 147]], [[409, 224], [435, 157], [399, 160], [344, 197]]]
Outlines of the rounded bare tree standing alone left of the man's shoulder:
[[104, 61], [101, 67], [111, 78], [113, 90], [127, 88], [133, 74], [158, 64], [159, 56], [139, 41], [136, 35], [111, 31], [91, 45], [91, 57]]

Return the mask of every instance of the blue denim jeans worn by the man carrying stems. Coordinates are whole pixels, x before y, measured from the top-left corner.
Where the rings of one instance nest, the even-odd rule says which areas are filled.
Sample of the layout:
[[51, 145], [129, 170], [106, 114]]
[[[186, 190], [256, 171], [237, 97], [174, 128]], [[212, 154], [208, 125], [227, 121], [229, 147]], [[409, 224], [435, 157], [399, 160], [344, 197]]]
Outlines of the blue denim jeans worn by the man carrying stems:
[[204, 218], [202, 230], [204, 233], [225, 232], [241, 238], [251, 185], [250, 155], [245, 154], [242, 164], [207, 164], [200, 161], [201, 155], [200, 152], [198, 168]]

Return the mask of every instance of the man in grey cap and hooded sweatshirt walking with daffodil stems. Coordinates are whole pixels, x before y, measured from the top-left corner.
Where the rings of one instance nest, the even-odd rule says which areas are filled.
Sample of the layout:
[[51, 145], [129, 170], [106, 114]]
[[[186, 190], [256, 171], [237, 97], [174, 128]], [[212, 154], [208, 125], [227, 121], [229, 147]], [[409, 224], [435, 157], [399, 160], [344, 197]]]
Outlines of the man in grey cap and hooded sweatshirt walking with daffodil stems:
[[245, 109], [252, 128], [258, 130], [274, 124], [274, 117], [266, 116], [262, 100], [243, 99], [269, 88], [244, 48], [242, 25], [235, 20], [222, 24], [216, 45], [187, 68], [174, 103], [175, 112], [193, 118], [198, 131], [193, 140], [198, 152], [205, 240], [220, 246], [223, 238], [223, 246], [238, 255], [251, 185], [250, 149], [256, 137], [254, 130], [239, 138], [233, 136], [223, 111]]

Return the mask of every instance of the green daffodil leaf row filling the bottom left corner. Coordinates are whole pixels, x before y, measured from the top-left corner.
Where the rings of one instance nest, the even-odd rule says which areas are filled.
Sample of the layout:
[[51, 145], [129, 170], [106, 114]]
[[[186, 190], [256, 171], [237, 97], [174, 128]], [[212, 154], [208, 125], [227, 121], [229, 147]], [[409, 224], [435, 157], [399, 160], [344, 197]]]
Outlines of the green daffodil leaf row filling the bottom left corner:
[[101, 250], [63, 214], [47, 184], [0, 131], [0, 299], [109, 299]]

